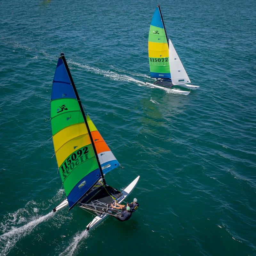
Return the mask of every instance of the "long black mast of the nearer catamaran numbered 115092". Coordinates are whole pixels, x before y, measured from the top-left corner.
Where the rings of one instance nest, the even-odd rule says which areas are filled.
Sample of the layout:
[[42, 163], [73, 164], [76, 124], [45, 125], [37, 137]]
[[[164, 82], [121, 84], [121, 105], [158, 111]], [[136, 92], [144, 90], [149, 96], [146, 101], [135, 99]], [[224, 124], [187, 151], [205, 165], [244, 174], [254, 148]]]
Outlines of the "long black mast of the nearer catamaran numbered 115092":
[[[91, 139], [91, 141], [92, 141], [92, 148], [93, 148], [93, 150], [94, 150], [94, 154], [95, 154], [95, 156], [96, 156], [96, 159], [97, 159], [97, 162], [98, 162], [98, 165], [99, 165], [101, 178], [102, 178], [102, 180], [103, 180], [104, 185], [106, 185], [106, 181], [105, 181], [105, 178], [104, 178], [104, 174], [103, 174], [103, 172], [102, 172], [101, 165], [100, 165], [100, 160], [99, 160], [99, 157], [98, 157], [98, 154], [97, 154], [97, 151], [96, 151], [94, 142], [93, 142], [93, 140], [92, 140], [92, 134], [91, 134], [91, 131], [90, 131], [90, 129], [89, 129], [89, 125], [88, 125], [88, 123], [87, 123], [86, 116], [85, 116], [85, 114], [84, 114], [84, 109], [83, 109], [82, 103], [81, 103], [81, 101], [80, 101], [79, 95], [78, 95], [78, 93], [77, 93], [77, 91], [76, 91], [76, 86], [75, 86], [75, 83], [74, 83], [73, 78], [72, 78], [72, 76], [71, 76], [71, 73], [70, 73], [70, 71], [69, 71], [68, 64], [67, 64], [67, 61], [66, 61], [66, 59], [65, 59], [64, 53], [60, 53], [60, 58], [63, 60], [63, 63], [64, 63], [64, 65], [65, 65], [65, 68], [66, 68], [66, 70], [67, 70], [67, 72], [68, 72], [69, 79], [70, 79], [70, 81], [71, 81], [72, 87], [73, 87], [74, 92], [75, 92], [75, 95], [76, 95], [76, 99], [77, 99], [77, 101], [78, 101], [79, 107], [80, 107], [81, 112], [82, 112], [82, 115], [83, 115], [83, 117], [84, 117], [84, 123], [85, 123], [85, 125], [86, 125], [86, 128], [87, 128], [87, 130], [88, 130], [88, 134], [89, 134], [90, 139]], [[70, 209], [71, 209], [71, 208], [69, 208], [69, 210], [70, 210]]]

